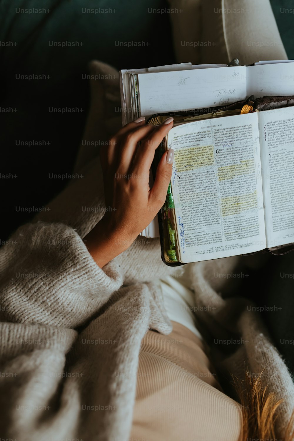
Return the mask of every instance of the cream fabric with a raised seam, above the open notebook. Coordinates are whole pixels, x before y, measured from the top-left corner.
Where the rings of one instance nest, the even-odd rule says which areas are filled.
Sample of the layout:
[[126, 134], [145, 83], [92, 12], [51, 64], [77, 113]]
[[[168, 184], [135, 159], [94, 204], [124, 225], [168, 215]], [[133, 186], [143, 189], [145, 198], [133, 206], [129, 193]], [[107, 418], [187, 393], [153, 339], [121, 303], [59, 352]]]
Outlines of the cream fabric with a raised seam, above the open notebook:
[[[169, 0], [179, 63], [287, 60], [269, 0]], [[182, 12], [181, 12], [182, 11]]]

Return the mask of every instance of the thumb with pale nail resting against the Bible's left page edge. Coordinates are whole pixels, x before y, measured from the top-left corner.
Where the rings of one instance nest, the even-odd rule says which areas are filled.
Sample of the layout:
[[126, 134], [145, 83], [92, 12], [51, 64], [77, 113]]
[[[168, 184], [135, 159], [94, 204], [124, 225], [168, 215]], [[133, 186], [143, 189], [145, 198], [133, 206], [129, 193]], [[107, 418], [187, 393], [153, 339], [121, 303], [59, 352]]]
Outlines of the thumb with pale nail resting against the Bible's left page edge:
[[153, 187], [150, 191], [149, 200], [157, 211], [164, 205], [168, 185], [171, 182], [172, 163], [174, 162], [175, 150], [168, 149], [162, 155], [156, 169]]

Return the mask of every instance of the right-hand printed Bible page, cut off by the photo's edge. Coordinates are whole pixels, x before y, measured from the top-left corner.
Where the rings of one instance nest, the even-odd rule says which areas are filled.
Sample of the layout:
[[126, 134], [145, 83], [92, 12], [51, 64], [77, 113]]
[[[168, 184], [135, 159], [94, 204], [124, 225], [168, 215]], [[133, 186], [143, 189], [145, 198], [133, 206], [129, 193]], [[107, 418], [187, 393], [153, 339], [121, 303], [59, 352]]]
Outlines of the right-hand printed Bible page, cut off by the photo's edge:
[[267, 248], [294, 242], [294, 107], [258, 113]]

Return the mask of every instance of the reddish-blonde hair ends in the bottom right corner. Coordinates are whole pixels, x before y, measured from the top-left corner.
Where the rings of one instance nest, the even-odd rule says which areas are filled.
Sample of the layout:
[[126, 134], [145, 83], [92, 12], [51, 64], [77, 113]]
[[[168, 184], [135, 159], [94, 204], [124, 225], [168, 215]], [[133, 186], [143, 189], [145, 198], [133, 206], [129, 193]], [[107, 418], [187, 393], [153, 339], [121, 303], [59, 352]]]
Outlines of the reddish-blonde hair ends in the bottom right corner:
[[268, 386], [263, 386], [262, 372], [252, 376], [246, 370], [245, 380], [241, 383], [233, 377], [242, 405], [243, 424], [240, 440], [294, 441], [294, 411], [283, 433], [279, 433], [276, 422], [283, 400], [278, 399], [274, 392], [268, 392]]

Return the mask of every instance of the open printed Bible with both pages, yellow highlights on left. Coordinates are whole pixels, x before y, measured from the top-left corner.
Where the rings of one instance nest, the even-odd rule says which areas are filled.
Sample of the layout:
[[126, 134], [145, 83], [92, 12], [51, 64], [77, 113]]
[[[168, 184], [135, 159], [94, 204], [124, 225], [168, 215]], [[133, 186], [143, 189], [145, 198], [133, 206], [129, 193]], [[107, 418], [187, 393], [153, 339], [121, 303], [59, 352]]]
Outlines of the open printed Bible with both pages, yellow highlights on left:
[[294, 242], [294, 107], [184, 123], [166, 146], [180, 262]]

